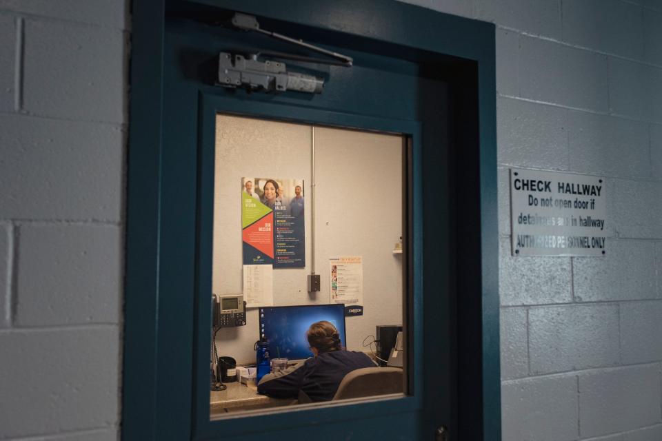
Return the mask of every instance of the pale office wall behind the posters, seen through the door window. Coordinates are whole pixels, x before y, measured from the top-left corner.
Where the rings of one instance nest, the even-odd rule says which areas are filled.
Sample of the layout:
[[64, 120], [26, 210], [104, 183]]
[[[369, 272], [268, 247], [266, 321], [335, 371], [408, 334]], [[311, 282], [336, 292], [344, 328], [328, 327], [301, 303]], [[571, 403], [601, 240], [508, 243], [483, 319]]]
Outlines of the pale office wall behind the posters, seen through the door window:
[[[347, 345], [366, 350], [376, 325], [402, 323], [402, 142], [399, 136], [315, 127], [315, 270], [321, 291], [309, 294], [312, 271], [310, 125], [217, 117], [214, 183], [214, 294], [242, 292], [241, 178], [272, 176], [305, 181], [305, 268], [274, 269], [274, 305], [329, 302], [330, 256], [363, 257], [363, 316], [348, 317]], [[254, 362], [257, 309], [248, 324], [221, 329], [219, 355]], [[368, 341], [372, 338], [368, 337]], [[374, 348], [374, 346], [373, 346]]]

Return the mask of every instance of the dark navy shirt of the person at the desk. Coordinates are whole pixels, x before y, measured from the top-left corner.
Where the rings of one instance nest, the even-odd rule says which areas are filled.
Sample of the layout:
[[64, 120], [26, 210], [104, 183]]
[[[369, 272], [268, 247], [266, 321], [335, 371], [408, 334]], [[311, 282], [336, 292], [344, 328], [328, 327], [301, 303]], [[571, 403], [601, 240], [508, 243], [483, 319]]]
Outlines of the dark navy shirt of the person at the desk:
[[330, 401], [345, 375], [363, 367], [375, 367], [363, 352], [325, 352], [285, 371], [265, 375], [257, 391], [274, 398], [297, 398], [303, 391], [314, 402]]

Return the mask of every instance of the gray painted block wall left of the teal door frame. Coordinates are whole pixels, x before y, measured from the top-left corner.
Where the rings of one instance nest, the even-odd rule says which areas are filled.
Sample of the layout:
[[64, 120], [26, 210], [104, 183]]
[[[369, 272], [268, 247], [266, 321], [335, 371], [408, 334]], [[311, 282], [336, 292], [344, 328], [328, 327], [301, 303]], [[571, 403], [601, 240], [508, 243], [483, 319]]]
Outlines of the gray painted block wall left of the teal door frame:
[[128, 8], [0, 0], [0, 439], [117, 440]]

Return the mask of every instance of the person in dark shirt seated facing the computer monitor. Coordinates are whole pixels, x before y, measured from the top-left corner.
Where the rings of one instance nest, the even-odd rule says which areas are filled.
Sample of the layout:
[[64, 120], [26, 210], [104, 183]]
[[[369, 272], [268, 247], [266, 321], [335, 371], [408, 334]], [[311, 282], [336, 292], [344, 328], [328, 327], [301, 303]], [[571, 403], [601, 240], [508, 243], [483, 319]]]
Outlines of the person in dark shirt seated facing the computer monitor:
[[312, 402], [330, 401], [345, 375], [363, 367], [375, 367], [365, 353], [341, 347], [338, 330], [330, 322], [313, 323], [305, 335], [314, 357], [285, 371], [265, 375], [257, 385], [258, 393], [297, 398], [302, 392]]

